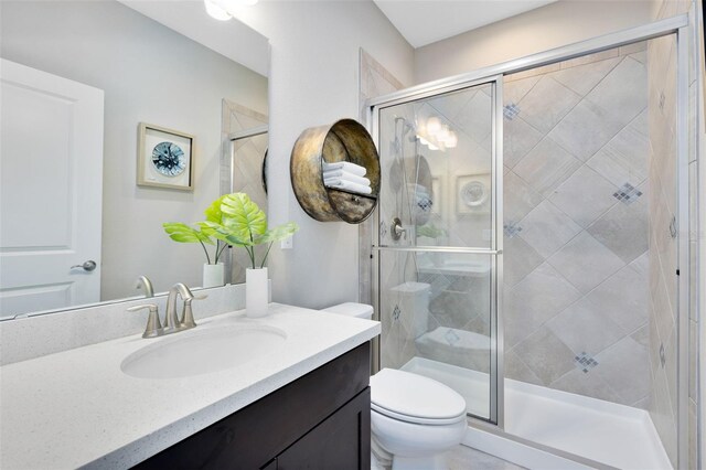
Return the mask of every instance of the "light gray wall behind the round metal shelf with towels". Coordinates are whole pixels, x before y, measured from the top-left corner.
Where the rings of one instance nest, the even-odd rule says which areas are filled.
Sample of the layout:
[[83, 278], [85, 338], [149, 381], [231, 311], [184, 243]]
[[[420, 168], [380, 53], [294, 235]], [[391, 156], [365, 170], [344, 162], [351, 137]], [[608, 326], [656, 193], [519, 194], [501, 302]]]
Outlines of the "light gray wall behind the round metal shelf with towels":
[[373, 2], [259, 2], [242, 20], [271, 45], [269, 217], [301, 229], [293, 249], [270, 253], [272, 299], [320, 308], [359, 297], [359, 227], [321, 223], [299, 206], [289, 158], [302, 130], [359, 117], [360, 47], [404, 84], [413, 83], [413, 49]]

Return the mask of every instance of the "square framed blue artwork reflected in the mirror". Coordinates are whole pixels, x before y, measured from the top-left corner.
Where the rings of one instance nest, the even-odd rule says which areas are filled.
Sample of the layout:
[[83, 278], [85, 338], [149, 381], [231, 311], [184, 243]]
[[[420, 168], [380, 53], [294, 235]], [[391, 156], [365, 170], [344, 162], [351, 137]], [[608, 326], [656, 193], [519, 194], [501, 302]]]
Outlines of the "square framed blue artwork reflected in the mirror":
[[193, 149], [194, 136], [140, 122], [137, 184], [193, 191]]

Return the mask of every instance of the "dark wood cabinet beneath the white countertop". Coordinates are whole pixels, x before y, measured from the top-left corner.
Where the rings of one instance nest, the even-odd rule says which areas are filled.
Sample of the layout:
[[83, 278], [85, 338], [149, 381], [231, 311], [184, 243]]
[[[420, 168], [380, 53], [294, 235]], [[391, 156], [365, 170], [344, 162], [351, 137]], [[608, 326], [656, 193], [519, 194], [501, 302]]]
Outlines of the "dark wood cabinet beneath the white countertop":
[[161, 451], [138, 469], [370, 469], [370, 343]]

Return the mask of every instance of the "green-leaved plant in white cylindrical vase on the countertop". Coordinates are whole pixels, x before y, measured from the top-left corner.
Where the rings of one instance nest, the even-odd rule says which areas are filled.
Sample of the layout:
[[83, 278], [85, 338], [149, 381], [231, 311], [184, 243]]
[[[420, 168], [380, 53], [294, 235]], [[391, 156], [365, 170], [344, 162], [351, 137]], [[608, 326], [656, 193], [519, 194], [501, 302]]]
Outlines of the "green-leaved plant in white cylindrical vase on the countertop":
[[[267, 314], [267, 268], [265, 263], [275, 242], [288, 238], [299, 229], [293, 222], [268, 228], [267, 216], [246, 193], [225, 194], [204, 212], [206, 220], [195, 227], [182, 223], [163, 224], [175, 242], [200, 243], [211, 264], [206, 245], [214, 245], [214, 263], [226, 246], [245, 248], [250, 259], [246, 269], [246, 310], [248, 317]], [[256, 259], [255, 246], [267, 245], [263, 259]]]

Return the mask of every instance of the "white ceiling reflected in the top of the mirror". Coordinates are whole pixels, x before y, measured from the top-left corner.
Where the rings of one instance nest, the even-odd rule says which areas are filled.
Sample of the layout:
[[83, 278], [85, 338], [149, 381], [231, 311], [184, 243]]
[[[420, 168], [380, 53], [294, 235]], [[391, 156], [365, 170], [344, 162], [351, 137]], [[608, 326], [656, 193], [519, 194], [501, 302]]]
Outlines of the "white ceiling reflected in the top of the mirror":
[[260, 75], [268, 75], [267, 38], [236, 19], [214, 20], [206, 13], [203, 0], [118, 1]]

